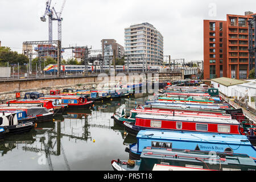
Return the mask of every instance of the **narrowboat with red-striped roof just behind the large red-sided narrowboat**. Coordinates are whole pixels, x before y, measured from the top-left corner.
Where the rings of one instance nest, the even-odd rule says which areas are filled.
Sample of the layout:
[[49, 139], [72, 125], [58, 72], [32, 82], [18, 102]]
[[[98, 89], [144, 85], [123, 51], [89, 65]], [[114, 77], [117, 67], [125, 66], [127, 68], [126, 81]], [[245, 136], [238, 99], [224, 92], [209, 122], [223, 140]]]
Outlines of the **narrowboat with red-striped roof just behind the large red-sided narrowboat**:
[[[130, 110], [129, 114], [125, 113], [125, 107], [117, 109], [112, 119], [119, 124], [123, 122], [134, 123], [137, 114], [158, 114], [158, 115], [176, 115], [183, 117], [200, 117], [200, 118], [225, 118], [232, 119], [231, 115], [224, 113], [211, 113], [207, 111], [192, 111], [192, 110], [167, 110], [167, 109], [154, 109], [152, 107], [135, 106]], [[150, 117], [150, 116], [149, 116]]]

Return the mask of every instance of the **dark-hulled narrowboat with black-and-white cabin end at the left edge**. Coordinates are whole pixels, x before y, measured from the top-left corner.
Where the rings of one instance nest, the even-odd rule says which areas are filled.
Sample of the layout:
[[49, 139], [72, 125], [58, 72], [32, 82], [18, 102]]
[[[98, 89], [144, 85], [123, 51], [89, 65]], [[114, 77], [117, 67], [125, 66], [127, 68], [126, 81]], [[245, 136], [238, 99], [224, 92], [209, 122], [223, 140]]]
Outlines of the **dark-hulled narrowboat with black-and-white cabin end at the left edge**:
[[16, 113], [5, 113], [4, 111], [0, 113], [0, 124], [0, 127], [6, 127], [6, 130], [9, 131], [8, 134], [25, 133], [35, 127], [34, 121], [18, 122]]

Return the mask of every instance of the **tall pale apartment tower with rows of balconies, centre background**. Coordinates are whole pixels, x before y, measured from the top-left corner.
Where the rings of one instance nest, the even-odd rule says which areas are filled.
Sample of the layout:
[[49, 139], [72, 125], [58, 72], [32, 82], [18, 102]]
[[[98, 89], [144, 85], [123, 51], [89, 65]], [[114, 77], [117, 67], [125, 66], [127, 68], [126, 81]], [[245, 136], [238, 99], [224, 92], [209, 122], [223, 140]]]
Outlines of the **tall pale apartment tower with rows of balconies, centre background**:
[[150, 23], [125, 28], [125, 57], [125, 63], [129, 60], [129, 65], [162, 65], [162, 34]]

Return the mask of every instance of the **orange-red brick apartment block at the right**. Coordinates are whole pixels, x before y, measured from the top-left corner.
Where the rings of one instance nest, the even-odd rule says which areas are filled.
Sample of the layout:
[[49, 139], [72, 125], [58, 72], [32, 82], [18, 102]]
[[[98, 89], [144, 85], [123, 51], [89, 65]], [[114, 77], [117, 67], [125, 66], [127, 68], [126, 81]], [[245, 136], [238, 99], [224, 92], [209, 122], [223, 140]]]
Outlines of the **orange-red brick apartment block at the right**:
[[246, 11], [245, 15], [228, 14], [226, 20], [204, 20], [204, 79], [248, 77], [251, 15]]

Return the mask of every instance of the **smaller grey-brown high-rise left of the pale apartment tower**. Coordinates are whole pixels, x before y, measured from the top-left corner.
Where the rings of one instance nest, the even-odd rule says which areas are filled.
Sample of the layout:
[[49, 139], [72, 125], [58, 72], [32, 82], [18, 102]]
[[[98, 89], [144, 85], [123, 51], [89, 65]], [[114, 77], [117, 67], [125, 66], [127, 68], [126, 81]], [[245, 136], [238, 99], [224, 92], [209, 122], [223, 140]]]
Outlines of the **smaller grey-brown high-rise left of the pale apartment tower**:
[[115, 57], [122, 58], [125, 54], [123, 46], [117, 43], [115, 39], [102, 39], [101, 40], [102, 55], [104, 56], [104, 64], [110, 65], [113, 61], [113, 50], [115, 50]]

